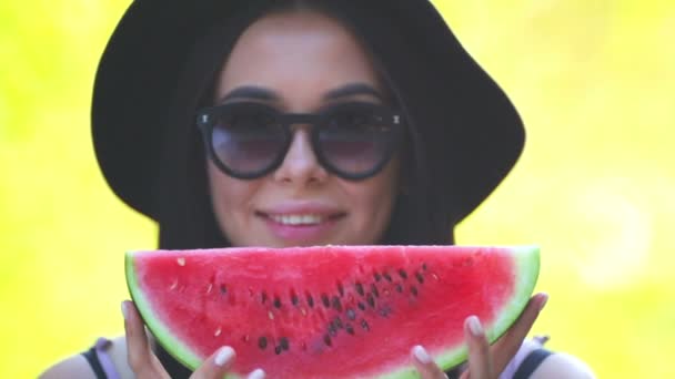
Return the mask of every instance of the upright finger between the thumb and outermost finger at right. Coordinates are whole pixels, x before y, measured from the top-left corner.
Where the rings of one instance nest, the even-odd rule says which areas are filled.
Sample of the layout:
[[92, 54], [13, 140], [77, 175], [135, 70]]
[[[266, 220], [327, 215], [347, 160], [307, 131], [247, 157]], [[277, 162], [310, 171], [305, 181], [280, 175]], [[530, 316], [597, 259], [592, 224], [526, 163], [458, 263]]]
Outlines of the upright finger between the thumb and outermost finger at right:
[[471, 379], [492, 379], [492, 357], [485, 330], [476, 316], [464, 321], [464, 339], [469, 345], [469, 372]]

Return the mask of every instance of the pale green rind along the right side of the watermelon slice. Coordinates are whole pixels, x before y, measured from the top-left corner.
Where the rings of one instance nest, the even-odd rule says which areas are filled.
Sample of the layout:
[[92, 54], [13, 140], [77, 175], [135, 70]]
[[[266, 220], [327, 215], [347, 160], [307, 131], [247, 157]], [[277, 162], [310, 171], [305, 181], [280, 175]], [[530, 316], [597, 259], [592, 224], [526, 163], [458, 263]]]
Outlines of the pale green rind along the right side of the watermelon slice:
[[[496, 341], [502, 335], [508, 330], [508, 328], [513, 325], [513, 322], [518, 318], [518, 316], [525, 309], [527, 301], [530, 301], [530, 297], [534, 291], [534, 287], [536, 285], [536, 280], [538, 278], [540, 273], [540, 247], [538, 246], [514, 246], [507, 247], [508, 250], [513, 253], [513, 257], [515, 259], [515, 270], [516, 278], [520, 280], [515, 284], [515, 288], [513, 290], [513, 295], [511, 299], [507, 301], [506, 307], [503, 311], [500, 313], [500, 318], [494, 320], [488, 326], [485, 326], [485, 336], [490, 344]], [[434, 357], [434, 361], [436, 365], [443, 369], [449, 370], [464, 360], [469, 355], [469, 350], [466, 348], [466, 344], [462, 344], [461, 346], [439, 354]], [[405, 367], [395, 372], [390, 372], [383, 376], [380, 376], [380, 379], [407, 379], [407, 378], [419, 378], [420, 375], [414, 369], [414, 367]]]

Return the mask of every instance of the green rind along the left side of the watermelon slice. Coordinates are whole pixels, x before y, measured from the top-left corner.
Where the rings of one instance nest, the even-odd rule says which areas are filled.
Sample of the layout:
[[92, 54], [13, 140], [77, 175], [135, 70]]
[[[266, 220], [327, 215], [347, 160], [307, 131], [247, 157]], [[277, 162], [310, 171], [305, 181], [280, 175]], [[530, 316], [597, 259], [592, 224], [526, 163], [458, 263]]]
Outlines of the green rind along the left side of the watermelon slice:
[[[135, 307], [139, 311], [144, 309], [152, 309], [152, 305], [141, 290], [139, 286], [139, 280], [135, 277], [135, 269], [133, 265], [134, 252], [128, 252], [124, 257], [125, 265], [125, 274], [127, 274], [127, 286], [129, 288], [129, 293], [131, 294], [131, 298], [135, 304]], [[181, 363], [187, 367], [197, 368], [201, 365], [201, 359], [194, 355], [184, 344], [182, 344], [173, 334], [165, 327], [165, 324], [162, 322], [158, 317], [155, 317], [151, 311], [144, 314], [141, 313], [141, 317], [145, 322], [145, 326], [152, 331], [152, 335], [160, 341], [162, 346], [171, 346], [172, 351], [171, 355], [173, 358], [178, 359]], [[230, 378], [230, 377], [229, 377]], [[231, 377], [238, 378], [238, 377]]]

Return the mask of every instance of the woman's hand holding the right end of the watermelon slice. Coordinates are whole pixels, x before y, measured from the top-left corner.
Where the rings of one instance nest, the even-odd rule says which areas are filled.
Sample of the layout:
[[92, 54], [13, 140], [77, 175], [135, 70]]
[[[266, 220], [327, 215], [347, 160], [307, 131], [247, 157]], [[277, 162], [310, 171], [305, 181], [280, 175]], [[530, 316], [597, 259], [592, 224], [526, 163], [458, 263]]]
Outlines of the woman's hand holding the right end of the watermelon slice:
[[[525, 310], [508, 330], [492, 346], [487, 344], [481, 321], [470, 316], [464, 321], [464, 339], [469, 345], [469, 369], [461, 379], [495, 379], [506, 368], [521, 348], [548, 296], [533, 296]], [[422, 346], [415, 346], [412, 351], [413, 363], [422, 379], [446, 379], [447, 376], [436, 366]]]

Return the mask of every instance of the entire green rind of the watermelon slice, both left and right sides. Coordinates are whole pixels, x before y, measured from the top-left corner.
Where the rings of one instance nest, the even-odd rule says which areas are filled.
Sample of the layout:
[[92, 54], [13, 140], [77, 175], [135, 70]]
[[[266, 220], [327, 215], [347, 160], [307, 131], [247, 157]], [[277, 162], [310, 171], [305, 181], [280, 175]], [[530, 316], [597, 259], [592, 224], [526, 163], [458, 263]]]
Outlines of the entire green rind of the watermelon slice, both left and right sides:
[[[491, 325], [485, 327], [485, 335], [490, 344], [497, 340], [510, 326], [523, 313], [534, 287], [537, 281], [540, 272], [540, 248], [538, 246], [514, 246], [507, 247], [513, 253], [515, 259], [515, 277], [520, 280], [515, 284], [514, 291], [511, 299], [503, 311], [500, 313], [497, 318]], [[140, 289], [138, 278], [134, 273], [133, 257], [134, 252], [128, 252], [125, 255], [125, 274], [127, 285], [133, 301], [139, 310], [152, 309], [150, 301], [145, 298], [143, 291]], [[197, 368], [201, 365], [201, 359], [194, 355], [184, 344], [180, 341], [173, 334], [164, 326], [164, 324], [154, 317], [152, 313], [141, 315], [143, 321], [148, 328], [152, 331], [154, 337], [160, 341], [162, 346], [172, 346], [171, 355], [178, 359], [181, 363], [190, 368]], [[412, 348], [412, 347], [411, 347]], [[467, 357], [466, 345], [451, 349], [449, 351], [439, 354], [434, 357], [434, 361], [443, 370], [453, 368]], [[384, 373], [379, 376], [381, 379], [406, 379], [406, 378], [419, 378], [419, 373], [413, 366], [403, 367], [394, 372]], [[229, 373], [225, 379], [239, 379], [242, 378], [235, 373]]]

